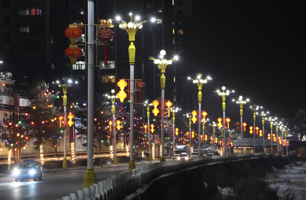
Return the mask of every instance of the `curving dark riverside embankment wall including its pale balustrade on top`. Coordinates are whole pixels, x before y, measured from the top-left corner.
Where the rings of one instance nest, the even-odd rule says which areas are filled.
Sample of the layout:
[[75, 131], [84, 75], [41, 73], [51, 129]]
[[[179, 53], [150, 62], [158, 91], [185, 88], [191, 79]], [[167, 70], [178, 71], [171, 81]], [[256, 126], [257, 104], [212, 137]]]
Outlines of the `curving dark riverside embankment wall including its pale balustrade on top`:
[[[91, 186], [91, 196], [85, 195], [78, 200], [95, 200], [96, 197], [100, 200], [122, 200], [127, 195], [133, 200], [198, 199], [199, 195], [205, 194], [205, 191], [199, 192], [205, 188], [204, 177], [208, 182], [214, 180], [210, 184], [215, 184], [215, 187], [225, 187], [233, 178], [247, 173], [260, 175], [271, 171], [272, 166], [283, 167], [287, 161], [288, 157], [283, 155], [253, 153], [158, 162], [107, 178]], [[71, 199], [69, 196], [64, 198]]]

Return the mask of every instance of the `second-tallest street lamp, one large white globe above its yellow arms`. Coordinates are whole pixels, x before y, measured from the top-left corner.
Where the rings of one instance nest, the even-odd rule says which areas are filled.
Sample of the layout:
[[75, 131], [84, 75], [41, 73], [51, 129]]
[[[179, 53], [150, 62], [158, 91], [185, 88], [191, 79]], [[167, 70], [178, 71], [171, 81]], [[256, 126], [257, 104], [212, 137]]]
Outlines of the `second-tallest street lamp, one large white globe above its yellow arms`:
[[161, 95], [161, 97], [162, 97], [162, 99], [161, 99], [161, 123], [162, 123], [162, 125], [161, 125], [161, 141], [160, 141], [161, 148], [162, 148], [162, 151], [161, 151], [162, 155], [161, 155], [161, 158], [160, 158], [161, 162], [166, 161], [165, 158], [163, 157], [164, 150], [165, 150], [163, 140], [164, 140], [164, 129], [165, 129], [165, 127], [164, 127], [164, 114], [165, 114], [164, 100], [165, 100], [165, 84], [166, 84], [166, 77], [165, 77], [164, 73], [165, 73], [165, 69], [166, 69], [167, 65], [171, 64], [172, 61], [177, 59], [177, 57], [175, 57], [171, 60], [166, 60], [166, 59], [164, 59], [164, 55], [166, 55], [166, 51], [161, 50], [160, 51], [161, 60], [155, 59], [155, 58], [149, 56], [149, 59], [154, 60], [154, 63], [158, 65], [158, 67], [159, 67], [159, 69], [162, 73], [162, 75], [160, 76], [160, 88], [161, 88], [161, 93], [162, 93], [162, 95]]

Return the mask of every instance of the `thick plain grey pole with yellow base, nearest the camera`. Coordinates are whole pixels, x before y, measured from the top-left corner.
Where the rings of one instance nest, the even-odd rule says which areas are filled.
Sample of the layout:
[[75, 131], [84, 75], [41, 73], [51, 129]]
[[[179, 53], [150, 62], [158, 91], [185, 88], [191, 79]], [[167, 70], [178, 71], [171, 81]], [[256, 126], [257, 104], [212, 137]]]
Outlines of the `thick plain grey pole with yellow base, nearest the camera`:
[[87, 171], [84, 174], [82, 189], [97, 183], [93, 170], [93, 112], [94, 112], [94, 3], [88, 0], [88, 106], [87, 106]]

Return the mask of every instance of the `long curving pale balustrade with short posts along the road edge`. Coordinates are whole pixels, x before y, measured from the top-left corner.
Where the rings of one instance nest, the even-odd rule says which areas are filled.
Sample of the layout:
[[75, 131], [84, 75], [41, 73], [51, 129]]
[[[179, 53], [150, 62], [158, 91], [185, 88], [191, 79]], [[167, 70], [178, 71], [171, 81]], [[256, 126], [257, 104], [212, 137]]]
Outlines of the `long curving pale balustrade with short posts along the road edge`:
[[[166, 173], [179, 172], [196, 165], [204, 165], [219, 161], [234, 161], [254, 157], [288, 158], [286, 155], [250, 153], [228, 156], [195, 157], [189, 160], [156, 162], [151, 165], [121, 172], [118, 175], [106, 178], [104, 181], [90, 186], [90, 188], [84, 188], [84, 190], [86, 190], [85, 193], [84, 190], [77, 190], [79, 196], [85, 195], [83, 199], [78, 199], [95, 199], [98, 197], [100, 200], [123, 200], [127, 195], [134, 193], [137, 189]], [[90, 194], [95, 194], [95, 196], [90, 196]], [[76, 197], [75, 193], [71, 193], [70, 195], [71, 196], [63, 197], [63, 199], [71, 199], [72, 196]]]

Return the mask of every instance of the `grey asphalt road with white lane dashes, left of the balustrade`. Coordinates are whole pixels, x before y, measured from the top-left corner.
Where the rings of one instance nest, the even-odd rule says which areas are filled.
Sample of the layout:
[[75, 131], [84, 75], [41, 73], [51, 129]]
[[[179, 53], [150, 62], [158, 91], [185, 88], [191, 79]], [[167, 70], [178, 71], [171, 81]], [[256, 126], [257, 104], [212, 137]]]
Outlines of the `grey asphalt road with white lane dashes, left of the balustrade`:
[[[138, 164], [136, 168], [149, 164]], [[97, 182], [127, 170], [127, 165], [95, 169]], [[55, 200], [69, 196], [82, 189], [86, 170], [43, 173], [42, 181], [37, 179], [15, 182], [13, 177], [0, 178], [0, 200]]]

